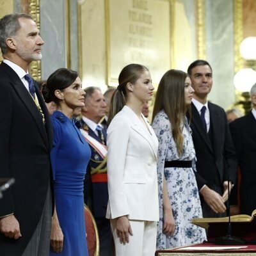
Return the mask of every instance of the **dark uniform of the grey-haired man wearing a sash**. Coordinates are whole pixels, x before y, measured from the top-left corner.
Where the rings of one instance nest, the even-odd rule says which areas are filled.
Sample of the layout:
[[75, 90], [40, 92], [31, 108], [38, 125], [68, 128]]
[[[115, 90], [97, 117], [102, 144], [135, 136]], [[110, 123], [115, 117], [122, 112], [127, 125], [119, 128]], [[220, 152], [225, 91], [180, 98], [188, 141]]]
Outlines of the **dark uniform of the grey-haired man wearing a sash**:
[[[83, 120], [82, 125], [83, 127], [86, 127], [90, 136], [101, 143], [99, 137], [92, 131], [92, 129], [90, 129], [90, 127], [86, 126]], [[102, 133], [105, 138], [106, 145], [107, 128], [105, 125], [103, 125], [103, 127], [104, 129], [102, 129]], [[92, 150], [92, 156], [87, 166], [86, 176], [84, 179], [84, 202], [90, 202], [90, 207], [95, 218], [105, 218], [108, 205], [108, 182], [92, 182], [92, 175], [90, 174], [91, 170], [92, 168], [97, 168], [103, 159], [92, 145], [90, 145], [90, 148]], [[106, 164], [104, 164], [102, 168], [106, 168]]]

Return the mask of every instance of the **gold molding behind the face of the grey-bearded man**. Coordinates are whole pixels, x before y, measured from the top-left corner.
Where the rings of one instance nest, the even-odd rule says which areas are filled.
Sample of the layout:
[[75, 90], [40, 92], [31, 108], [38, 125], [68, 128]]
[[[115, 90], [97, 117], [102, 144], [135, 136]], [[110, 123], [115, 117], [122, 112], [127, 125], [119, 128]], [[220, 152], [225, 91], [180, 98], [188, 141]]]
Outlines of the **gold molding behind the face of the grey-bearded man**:
[[[40, 29], [40, 0], [29, 0], [28, 12], [35, 20], [38, 29]], [[40, 81], [42, 79], [41, 61], [32, 61], [30, 65], [30, 74], [33, 79]]]

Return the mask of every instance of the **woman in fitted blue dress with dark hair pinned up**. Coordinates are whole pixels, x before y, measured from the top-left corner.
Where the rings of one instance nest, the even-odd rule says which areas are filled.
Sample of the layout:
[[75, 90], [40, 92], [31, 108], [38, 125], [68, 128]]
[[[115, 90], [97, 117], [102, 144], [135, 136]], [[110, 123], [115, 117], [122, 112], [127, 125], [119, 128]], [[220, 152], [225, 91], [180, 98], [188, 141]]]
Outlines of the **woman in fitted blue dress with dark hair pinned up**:
[[88, 255], [84, 223], [83, 180], [90, 147], [72, 120], [84, 106], [84, 91], [77, 72], [60, 68], [47, 80], [45, 102], [54, 101], [54, 145], [51, 152], [55, 207], [50, 255]]

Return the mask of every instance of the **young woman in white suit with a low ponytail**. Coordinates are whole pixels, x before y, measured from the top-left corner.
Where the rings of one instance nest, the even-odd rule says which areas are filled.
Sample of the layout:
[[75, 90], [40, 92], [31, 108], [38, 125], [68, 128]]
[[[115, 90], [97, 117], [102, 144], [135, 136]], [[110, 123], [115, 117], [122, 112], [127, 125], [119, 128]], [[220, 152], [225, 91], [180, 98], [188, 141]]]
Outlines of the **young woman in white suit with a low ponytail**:
[[108, 120], [106, 217], [116, 256], [153, 256], [159, 220], [158, 141], [141, 107], [152, 99], [154, 86], [148, 69], [138, 64], [124, 67], [118, 81]]

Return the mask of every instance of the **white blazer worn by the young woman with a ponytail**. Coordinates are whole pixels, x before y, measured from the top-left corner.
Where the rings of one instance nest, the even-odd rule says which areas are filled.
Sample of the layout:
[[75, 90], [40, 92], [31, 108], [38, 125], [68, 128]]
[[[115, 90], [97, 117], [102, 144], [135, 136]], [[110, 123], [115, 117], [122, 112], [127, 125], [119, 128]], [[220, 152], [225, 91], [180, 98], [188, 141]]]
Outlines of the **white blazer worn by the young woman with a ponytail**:
[[159, 221], [158, 140], [143, 118], [148, 129], [131, 108], [124, 106], [108, 127], [106, 218], [127, 215], [129, 220]]

